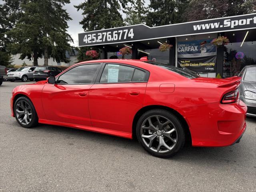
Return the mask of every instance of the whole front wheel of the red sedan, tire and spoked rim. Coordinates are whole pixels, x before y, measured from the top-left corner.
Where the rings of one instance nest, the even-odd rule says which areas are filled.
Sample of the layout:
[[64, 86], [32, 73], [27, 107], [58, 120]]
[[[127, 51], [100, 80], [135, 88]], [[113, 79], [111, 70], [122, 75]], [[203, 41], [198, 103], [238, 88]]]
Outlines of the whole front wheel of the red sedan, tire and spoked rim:
[[32, 102], [26, 97], [20, 97], [14, 104], [14, 115], [17, 122], [24, 128], [38, 124], [38, 116]]

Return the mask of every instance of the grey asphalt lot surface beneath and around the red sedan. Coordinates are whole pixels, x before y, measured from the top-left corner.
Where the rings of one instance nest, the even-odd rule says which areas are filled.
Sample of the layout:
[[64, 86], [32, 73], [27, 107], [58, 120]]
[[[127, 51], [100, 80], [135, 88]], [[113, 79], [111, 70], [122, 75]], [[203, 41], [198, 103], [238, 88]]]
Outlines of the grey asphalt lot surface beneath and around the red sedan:
[[256, 191], [254, 118], [246, 120], [239, 144], [185, 147], [160, 159], [136, 140], [44, 124], [20, 127], [9, 106], [20, 84], [0, 86], [0, 191]]

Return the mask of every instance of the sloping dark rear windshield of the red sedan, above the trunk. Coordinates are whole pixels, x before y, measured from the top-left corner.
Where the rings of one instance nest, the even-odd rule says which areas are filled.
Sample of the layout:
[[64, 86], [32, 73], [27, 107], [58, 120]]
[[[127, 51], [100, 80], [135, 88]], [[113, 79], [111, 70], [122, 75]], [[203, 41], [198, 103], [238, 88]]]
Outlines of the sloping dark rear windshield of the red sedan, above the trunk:
[[165, 64], [158, 63], [158, 62], [153, 62], [153, 61], [145, 61], [145, 62], [149, 63], [149, 64], [157, 65], [159, 67], [165, 68], [165, 69], [173, 71], [173, 72], [176, 72], [176, 73], [178, 73], [178, 74], [180, 74], [184, 77], [190, 78], [190, 79], [199, 77], [198, 74], [196, 74], [194, 72], [186, 71], [186, 70], [183, 70], [183, 69], [178, 68], [178, 67], [165, 65]]

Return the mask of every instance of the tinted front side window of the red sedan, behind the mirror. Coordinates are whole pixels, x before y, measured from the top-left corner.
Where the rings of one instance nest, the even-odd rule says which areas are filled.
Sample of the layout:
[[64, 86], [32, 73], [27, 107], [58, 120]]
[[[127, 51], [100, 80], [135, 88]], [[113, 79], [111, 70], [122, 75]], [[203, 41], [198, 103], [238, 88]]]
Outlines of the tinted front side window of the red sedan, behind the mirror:
[[57, 83], [61, 84], [88, 84], [92, 83], [100, 64], [87, 64], [74, 67], [62, 74]]

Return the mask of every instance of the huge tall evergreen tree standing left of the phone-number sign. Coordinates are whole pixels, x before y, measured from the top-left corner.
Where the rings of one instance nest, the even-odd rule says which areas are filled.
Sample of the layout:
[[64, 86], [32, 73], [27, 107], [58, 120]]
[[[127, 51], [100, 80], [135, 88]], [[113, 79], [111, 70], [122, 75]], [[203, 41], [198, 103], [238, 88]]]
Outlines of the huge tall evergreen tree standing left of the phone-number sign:
[[8, 32], [12, 43], [8, 48], [12, 53], [21, 53], [20, 59], [44, 56], [44, 65], [48, 65], [51, 56], [56, 62], [69, 62], [66, 50], [73, 42], [67, 33], [69, 14], [62, 8], [70, 0], [30, 0], [22, 2], [22, 14], [16, 27]]

